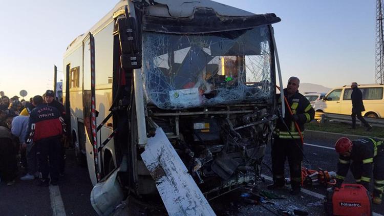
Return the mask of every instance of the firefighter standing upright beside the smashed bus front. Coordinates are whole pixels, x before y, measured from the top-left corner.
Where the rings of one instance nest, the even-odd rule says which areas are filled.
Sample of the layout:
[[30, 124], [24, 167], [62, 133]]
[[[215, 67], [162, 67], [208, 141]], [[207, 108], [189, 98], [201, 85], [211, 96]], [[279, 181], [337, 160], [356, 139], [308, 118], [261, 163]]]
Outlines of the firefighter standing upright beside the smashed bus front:
[[[285, 104], [287, 112], [285, 112], [284, 122], [279, 119], [273, 132], [275, 138], [271, 151], [273, 184], [268, 186], [268, 189], [284, 187], [284, 164], [288, 158], [292, 195], [297, 195], [301, 191], [301, 164], [303, 161], [303, 143], [295, 128], [295, 122], [303, 133], [304, 124], [310, 122], [315, 114], [307, 98], [298, 93], [299, 84], [300, 80], [297, 77], [290, 77], [287, 88], [284, 89], [284, 96], [287, 98], [293, 115], [288, 112], [288, 106]], [[280, 99], [279, 102], [281, 102]]]

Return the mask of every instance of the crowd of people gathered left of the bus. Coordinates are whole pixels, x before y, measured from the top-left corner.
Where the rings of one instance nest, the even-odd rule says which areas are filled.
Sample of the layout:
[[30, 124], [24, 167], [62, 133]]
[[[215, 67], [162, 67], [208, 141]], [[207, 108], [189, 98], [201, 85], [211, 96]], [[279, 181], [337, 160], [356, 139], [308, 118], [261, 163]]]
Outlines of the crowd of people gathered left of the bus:
[[20, 180], [57, 185], [65, 175], [64, 106], [52, 90], [29, 101], [0, 96], [0, 181], [13, 185], [21, 173]]

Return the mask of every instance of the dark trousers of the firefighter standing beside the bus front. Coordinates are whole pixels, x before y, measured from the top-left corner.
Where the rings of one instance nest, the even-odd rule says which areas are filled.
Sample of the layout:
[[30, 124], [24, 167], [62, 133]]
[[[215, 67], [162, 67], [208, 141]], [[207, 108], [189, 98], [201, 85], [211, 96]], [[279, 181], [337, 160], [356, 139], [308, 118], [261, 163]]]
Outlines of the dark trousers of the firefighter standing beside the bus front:
[[273, 182], [284, 185], [284, 164], [288, 159], [292, 188], [301, 187], [302, 154], [303, 145], [300, 139], [276, 138], [272, 145], [272, 174]]

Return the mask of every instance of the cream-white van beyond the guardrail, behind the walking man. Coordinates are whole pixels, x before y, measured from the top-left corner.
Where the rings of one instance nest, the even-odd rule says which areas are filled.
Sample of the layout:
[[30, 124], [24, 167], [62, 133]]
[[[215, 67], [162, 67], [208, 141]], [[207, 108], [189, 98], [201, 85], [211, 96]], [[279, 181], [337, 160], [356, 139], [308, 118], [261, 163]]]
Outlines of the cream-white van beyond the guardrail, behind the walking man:
[[[384, 84], [358, 85], [365, 110], [362, 116], [384, 118]], [[332, 89], [323, 100], [315, 103], [316, 112], [350, 115], [352, 113], [352, 89], [350, 85]]]

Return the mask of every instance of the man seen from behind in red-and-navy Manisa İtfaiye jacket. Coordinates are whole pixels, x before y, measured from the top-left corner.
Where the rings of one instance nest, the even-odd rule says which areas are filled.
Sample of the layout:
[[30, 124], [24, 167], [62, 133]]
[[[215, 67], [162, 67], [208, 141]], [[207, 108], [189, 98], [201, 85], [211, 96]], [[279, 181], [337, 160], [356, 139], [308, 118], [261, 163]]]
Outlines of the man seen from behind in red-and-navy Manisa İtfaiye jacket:
[[[27, 144], [32, 140], [36, 144], [39, 154], [40, 186], [48, 186], [51, 176], [51, 184], [57, 185], [59, 179], [60, 139], [65, 129], [60, 112], [51, 106], [43, 104], [41, 96], [33, 97], [36, 108], [29, 116]], [[49, 157], [49, 162], [48, 162]]]

